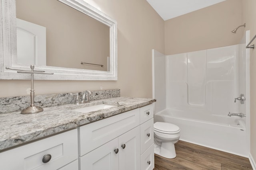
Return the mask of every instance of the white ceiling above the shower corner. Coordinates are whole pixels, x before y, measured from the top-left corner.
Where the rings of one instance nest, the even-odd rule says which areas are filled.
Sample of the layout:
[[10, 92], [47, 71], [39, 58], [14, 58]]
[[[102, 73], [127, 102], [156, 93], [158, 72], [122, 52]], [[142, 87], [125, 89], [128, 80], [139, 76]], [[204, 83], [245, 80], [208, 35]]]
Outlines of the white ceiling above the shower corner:
[[147, 0], [164, 21], [225, 0]]

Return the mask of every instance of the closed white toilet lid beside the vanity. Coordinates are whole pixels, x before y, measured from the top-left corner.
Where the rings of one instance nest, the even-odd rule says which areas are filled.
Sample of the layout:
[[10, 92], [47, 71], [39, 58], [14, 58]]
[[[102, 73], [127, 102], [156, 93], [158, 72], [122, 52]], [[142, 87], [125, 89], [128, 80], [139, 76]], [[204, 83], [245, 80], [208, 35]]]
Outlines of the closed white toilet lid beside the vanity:
[[180, 132], [180, 128], [178, 126], [171, 123], [165, 123], [165, 122], [154, 123], [154, 130], [160, 133], [167, 133], [167, 134]]

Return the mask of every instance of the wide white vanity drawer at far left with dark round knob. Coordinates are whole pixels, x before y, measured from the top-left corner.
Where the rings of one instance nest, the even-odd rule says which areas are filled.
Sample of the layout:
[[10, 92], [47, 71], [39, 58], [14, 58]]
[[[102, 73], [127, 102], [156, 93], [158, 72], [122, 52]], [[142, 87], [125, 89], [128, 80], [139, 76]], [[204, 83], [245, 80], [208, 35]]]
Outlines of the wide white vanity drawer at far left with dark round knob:
[[[50, 154], [50, 161], [43, 157]], [[47, 156], [46, 156], [47, 157]], [[3, 170], [56, 170], [78, 159], [77, 129], [0, 153]]]

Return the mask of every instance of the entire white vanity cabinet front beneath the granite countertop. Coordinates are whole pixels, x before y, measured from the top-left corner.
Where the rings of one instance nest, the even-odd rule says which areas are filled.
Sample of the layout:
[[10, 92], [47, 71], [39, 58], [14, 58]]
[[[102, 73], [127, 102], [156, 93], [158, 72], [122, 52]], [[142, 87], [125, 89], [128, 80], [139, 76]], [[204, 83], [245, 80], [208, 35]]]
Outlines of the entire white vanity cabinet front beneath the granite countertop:
[[0, 170], [152, 170], [153, 105], [0, 152]]

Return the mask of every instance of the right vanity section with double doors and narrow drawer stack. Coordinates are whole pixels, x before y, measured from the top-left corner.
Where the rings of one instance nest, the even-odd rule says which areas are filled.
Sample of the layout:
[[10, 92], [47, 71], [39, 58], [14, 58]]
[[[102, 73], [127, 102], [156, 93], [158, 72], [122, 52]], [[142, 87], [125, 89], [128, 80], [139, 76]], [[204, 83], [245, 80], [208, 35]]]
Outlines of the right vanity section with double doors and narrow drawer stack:
[[78, 128], [80, 170], [152, 170], [153, 105]]

